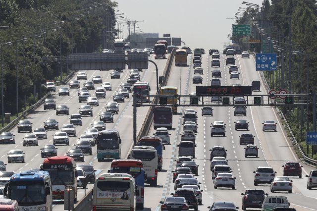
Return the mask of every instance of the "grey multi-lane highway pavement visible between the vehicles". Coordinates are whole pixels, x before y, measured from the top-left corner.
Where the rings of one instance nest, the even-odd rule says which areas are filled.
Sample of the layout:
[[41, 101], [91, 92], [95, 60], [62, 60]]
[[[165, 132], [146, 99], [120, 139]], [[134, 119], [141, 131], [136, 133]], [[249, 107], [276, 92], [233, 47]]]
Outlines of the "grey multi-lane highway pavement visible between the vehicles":
[[[192, 47], [193, 48], [193, 47]], [[208, 49], [205, 48], [206, 53]], [[170, 76], [168, 78], [167, 85], [176, 86], [179, 88], [178, 94], [187, 95], [191, 92], [196, 92], [196, 86], [192, 84], [192, 77], [194, 76], [194, 71], [192, 67], [192, 54], [188, 56], [187, 67], [175, 67], [172, 65]], [[151, 56], [151, 59], [154, 60], [154, 57]], [[222, 86], [230, 86], [233, 83], [240, 83], [242, 85], [251, 85], [253, 80], [260, 80], [260, 75], [255, 71], [255, 60], [252, 56], [250, 59], [241, 58], [241, 55], [236, 55], [236, 64], [239, 66], [240, 79], [230, 79], [228, 73], [228, 67], [225, 65], [225, 55], [220, 54], [221, 67], [211, 68], [211, 56], [204, 54], [202, 57], [202, 67], [204, 68], [203, 77], [203, 86], [210, 85], [211, 80], [211, 71], [213, 69], [221, 69]], [[162, 74], [162, 71], [166, 64], [166, 59], [157, 59], [154, 60], [159, 67], [159, 75]], [[100, 106], [94, 107], [93, 117], [83, 117], [83, 126], [76, 127], [77, 137], [80, 136], [86, 129], [91, 128], [91, 123], [94, 120], [99, 120], [99, 113], [105, 110], [105, 105], [108, 101], [112, 101], [112, 95], [119, 88], [119, 85], [122, 82], [125, 82], [128, 76], [128, 70], [125, 70], [121, 73], [120, 79], [110, 79], [110, 71], [86, 71], [88, 74], [88, 79], [93, 75], [101, 75], [103, 81], [109, 81], [112, 83], [112, 90], [106, 93], [106, 99], [99, 99]], [[144, 70], [141, 73], [141, 79], [147, 81], [151, 85], [151, 95], [156, 92], [156, 76], [155, 76], [155, 67], [149, 63], [149, 69]], [[84, 80], [81, 81], [81, 84], [84, 83]], [[95, 85], [98, 87], [98, 85]], [[57, 88], [56, 88], [57, 90]], [[53, 98], [56, 101], [56, 105], [65, 104], [70, 107], [69, 113], [77, 113], [80, 105], [78, 103], [77, 89], [70, 90], [70, 97], [58, 97], [58, 94], [53, 94]], [[94, 96], [94, 91], [89, 91], [92, 96]], [[57, 92], [56, 92], [57, 93]], [[256, 92], [256, 94], [266, 94], [264, 92], [264, 87], [261, 87], [261, 92]], [[210, 98], [209, 98], [210, 100]], [[106, 123], [106, 128], [117, 129], [120, 132], [122, 143], [121, 143], [121, 158], [126, 158], [129, 154], [129, 149], [133, 144], [133, 112], [132, 112], [132, 94], [130, 98], [126, 99], [125, 103], [120, 103], [119, 114], [114, 115], [114, 123]], [[283, 172], [282, 165], [289, 160], [298, 160], [294, 154], [293, 147], [289, 140], [286, 138], [286, 132], [283, 131], [283, 126], [279, 121], [278, 113], [272, 107], [261, 107], [261, 106], [249, 106], [247, 108], [247, 116], [233, 116], [233, 106], [230, 107], [216, 107], [213, 106], [213, 116], [203, 117], [201, 116], [201, 107], [178, 107], [178, 114], [173, 116], [173, 129], [170, 130], [170, 143], [171, 145], [166, 145], [166, 150], [163, 153], [163, 167], [162, 171], [158, 175], [158, 187], [149, 187], [146, 186], [145, 189], [145, 211], [155, 211], [159, 209], [159, 201], [163, 200], [165, 196], [169, 196], [170, 193], [174, 192], [174, 184], [172, 183], [172, 174], [171, 171], [175, 168], [174, 159], [178, 156], [177, 143], [180, 142], [179, 133], [182, 131], [182, 112], [187, 108], [196, 109], [198, 115], [198, 133], [196, 136], [196, 158], [195, 161], [199, 165], [199, 176], [197, 176], [199, 182], [202, 183], [201, 189], [203, 189], [203, 205], [199, 206], [200, 211], [207, 211], [208, 206], [211, 206], [213, 202], [216, 201], [232, 201], [235, 203], [239, 210], [241, 209], [241, 199], [242, 196], [240, 193], [244, 192], [246, 188], [254, 188], [254, 173], [258, 166], [267, 166], [270, 165], [277, 172], [276, 175], [281, 176]], [[137, 123], [138, 128], [140, 128], [141, 122], [144, 120], [144, 114], [147, 112], [149, 107], [138, 107], [137, 108]], [[59, 122], [61, 127], [63, 123], [68, 123], [67, 115], [55, 115], [55, 110], [44, 110], [43, 106], [40, 106], [35, 112], [27, 116], [27, 119], [30, 119], [33, 122], [33, 129], [36, 127], [43, 127], [43, 122], [48, 118], [55, 118]], [[239, 145], [239, 135], [242, 131], [235, 131], [234, 122], [238, 119], [246, 119], [250, 122], [249, 129], [255, 138], [255, 144], [260, 148], [260, 153], [258, 158], [245, 158], [244, 156], [244, 146]], [[214, 120], [221, 120], [226, 123], [226, 137], [211, 137], [210, 136], [210, 125]], [[277, 132], [263, 132], [262, 131], [262, 122], [264, 120], [275, 120], [277, 124]], [[24, 133], [17, 133], [17, 128], [13, 128], [12, 132], [15, 134], [15, 145], [2, 145], [0, 149], [0, 160], [6, 161], [6, 153], [10, 149], [22, 149], [25, 152], [25, 163], [8, 163], [7, 171], [21, 171], [28, 170], [30, 168], [39, 167], [43, 158], [40, 156], [40, 148], [45, 144], [52, 144], [55, 131], [48, 132], [48, 140], [39, 140], [39, 147], [29, 146], [23, 147], [23, 137]], [[149, 134], [153, 134], [154, 129], [151, 127]], [[77, 137], [70, 137], [70, 145], [73, 145]], [[228, 164], [233, 170], [233, 175], [236, 179], [236, 189], [231, 190], [227, 188], [219, 188], [215, 190], [213, 188], [213, 183], [211, 180], [211, 170], [210, 170], [210, 152], [213, 146], [224, 146], [227, 152]], [[72, 146], [57, 146], [58, 155], [64, 155], [65, 152], [72, 148]], [[93, 147], [93, 156], [85, 156], [85, 163], [93, 164], [94, 168], [97, 169], [97, 173], [100, 175], [103, 172], [106, 172], [110, 167], [110, 162], [98, 162], [96, 156], [96, 147]], [[78, 162], [77, 164], [82, 164]], [[291, 207], [297, 209], [297, 211], [307, 211], [307, 210], [316, 210], [317, 202], [317, 191], [316, 190], [307, 190], [306, 174], [313, 167], [305, 165], [303, 168], [303, 178], [299, 179], [298, 177], [291, 177], [293, 180], [293, 193], [289, 194], [286, 192], [277, 192], [276, 195], [285, 195], [287, 196]], [[91, 189], [92, 184], [88, 185], [88, 188]], [[257, 188], [263, 189], [265, 193], [272, 195], [269, 192], [269, 185], [259, 185]], [[88, 191], [88, 190], [87, 190]], [[84, 191], [79, 189], [78, 200], [83, 197]], [[63, 210], [63, 202], [54, 202], [53, 210], [59, 211]], [[250, 210], [250, 209], [248, 209]], [[252, 210], [252, 209], [251, 209]], [[259, 209], [254, 209], [259, 210]]]

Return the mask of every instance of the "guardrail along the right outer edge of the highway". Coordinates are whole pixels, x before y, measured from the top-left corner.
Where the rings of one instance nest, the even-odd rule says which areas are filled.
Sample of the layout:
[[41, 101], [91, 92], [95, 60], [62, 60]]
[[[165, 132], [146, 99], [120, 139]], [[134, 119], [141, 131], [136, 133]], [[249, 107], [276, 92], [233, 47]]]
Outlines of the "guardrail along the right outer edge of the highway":
[[[255, 55], [255, 54], [253, 53], [253, 55]], [[268, 83], [267, 83], [267, 81], [266, 81], [266, 78], [264, 77], [263, 71], [260, 71], [260, 75], [261, 75], [261, 79], [262, 79], [262, 81], [263, 81], [263, 83], [264, 83], [264, 86], [265, 86], [265, 88], [266, 88], [266, 92], [268, 93], [271, 89], [269, 88], [269, 85], [268, 85]], [[291, 129], [291, 127], [289, 126], [289, 124], [288, 124], [288, 122], [287, 122], [287, 120], [286, 120], [286, 118], [285, 118], [283, 112], [282, 112], [278, 107], [275, 107], [275, 108], [276, 108], [277, 112], [281, 114], [281, 116], [282, 116], [282, 118], [283, 118], [283, 120], [284, 120], [284, 122], [285, 122], [285, 125], [286, 125], [286, 127], [287, 127], [287, 129], [288, 129], [288, 131], [289, 131], [289, 133], [290, 133], [290, 135], [291, 135], [291, 137], [292, 137], [292, 139], [293, 139], [295, 145], [297, 146], [299, 152], [300, 152], [301, 155], [303, 156], [303, 159], [304, 159], [306, 162], [310, 163], [310, 164], [317, 165], [317, 160], [307, 157], [307, 156], [305, 155], [305, 153], [303, 152], [303, 150], [302, 150], [301, 146], [299, 145], [299, 143], [297, 142], [297, 140], [296, 140], [296, 138], [295, 138], [295, 136], [294, 136], [294, 134], [293, 134], [293, 132], [292, 132], [292, 129]]]

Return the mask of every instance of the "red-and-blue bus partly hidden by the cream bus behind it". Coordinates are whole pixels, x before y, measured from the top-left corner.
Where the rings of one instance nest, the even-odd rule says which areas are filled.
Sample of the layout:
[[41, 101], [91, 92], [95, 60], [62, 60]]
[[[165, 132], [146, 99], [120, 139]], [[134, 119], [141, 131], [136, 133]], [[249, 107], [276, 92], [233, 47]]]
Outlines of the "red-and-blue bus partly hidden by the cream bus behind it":
[[146, 180], [142, 160], [120, 159], [111, 162], [109, 173], [127, 173], [130, 174], [136, 185], [136, 208], [144, 208], [144, 181]]

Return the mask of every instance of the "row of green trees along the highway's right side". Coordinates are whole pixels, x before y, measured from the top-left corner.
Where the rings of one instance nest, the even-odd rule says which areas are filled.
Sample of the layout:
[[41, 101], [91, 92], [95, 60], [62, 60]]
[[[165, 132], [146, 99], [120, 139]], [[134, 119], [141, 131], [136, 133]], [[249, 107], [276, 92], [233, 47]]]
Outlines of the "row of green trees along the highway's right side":
[[[268, 52], [276, 52], [279, 55], [281, 55], [281, 53], [274, 49], [276, 49], [276, 46], [278, 46], [277, 48], [283, 49], [285, 84], [284, 87], [281, 87], [281, 79], [277, 77], [281, 74], [280, 69], [271, 74], [265, 72], [264, 75], [271, 88], [277, 90], [286, 88], [288, 90], [305, 93], [308, 83], [308, 92], [316, 93], [316, 20], [317, 5], [315, 0], [271, 0], [271, 3], [269, 0], [264, 0], [260, 8], [251, 6], [237, 19], [237, 24], [251, 23], [253, 29], [252, 34], [250, 36], [232, 36], [231, 39], [239, 43], [245, 50], [249, 49], [257, 53], [265, 52], [264, 45], [266, 45], [266, 52], [268, 50]], [[261, 42], [266, 42], [266, 44], [257, 44], [255, 49], [251, 49], [250, 44], [247, 43], [247, 40], [250, 38], [262, 39]], [[275, 48], [273, 48], [273, 45], [275, 45]], [[301, 53], [295, 55], [293, 51]], [[278, 59], [279, 64], [281, 64], [282, 60], [280, 58]], [[309, 68], [307, 60], [309, 61]], [[307, 81], [308, 73], [309, 79]], [[291, 80], [288, 80], [289, 78]], [[305, 110], [305, 117], [301, 118], [299, 118], [299, 109], [300, 108], [294, 107], [292, 111], [286, 110], [285, 108], [282, 110], [288, 117], [287, 120], [297, 140], [302, 141], [302, 146], [305, 146], [306, 131], [314, 131], [316, 129], [313, 128], [313, 108], [311, 106], [308, 107], [308, 110]], [[304, 128], [302, 128], [303, 123], [302, 125], [299, 123], [300, 120], [305, 121]], [[308, 124], [306, 124], [306, 122]], [[306, 125], [308, 125], [308, 127]]]

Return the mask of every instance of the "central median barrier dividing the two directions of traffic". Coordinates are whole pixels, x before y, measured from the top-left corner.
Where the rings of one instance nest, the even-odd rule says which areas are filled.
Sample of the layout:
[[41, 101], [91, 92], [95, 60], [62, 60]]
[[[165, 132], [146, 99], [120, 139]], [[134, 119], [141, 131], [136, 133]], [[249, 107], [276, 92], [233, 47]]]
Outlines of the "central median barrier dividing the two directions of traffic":
[[[162, 74], [164, 76], [164, 79], [162, 81], [162, 84], [159, 85], [159, 88], [161, 86], [165, 86], [167, 83], [167, 79], [168, 79], [168, 76], [170, 73], [171, 65], [173, 63], [175, 51], [176, 50], [173, 49], [173, 51], [170, 53], [169, 57], [167, 58], [167, 61], [166, 61], [167, 65], [165, 66], [165, 68], [163, 70], [163, 74]], [[156, 92], [156, 94], [158, 94], [158, 93]], [[151, 106], [150, 109], [148, 110], [147, 114], [145, 115], [145, 120], [144, 120], [144, 122], [140, 128], [140, 131], [137, 135], [137, 140], [139, 140], [141, 137], [145, 136], [149, 132], [151, 122], [153, 121], [153, 109], [154, 109], [154, 106]], [[88, 192], [88, 195], [86, 197], [82, 198], [75, 206], [76, 207], [74, 208], [73, 211], [90, 211], [92, 209], [91, 191]], [[91, 207], [89, 207], [89, 206], [91, 206]]]

